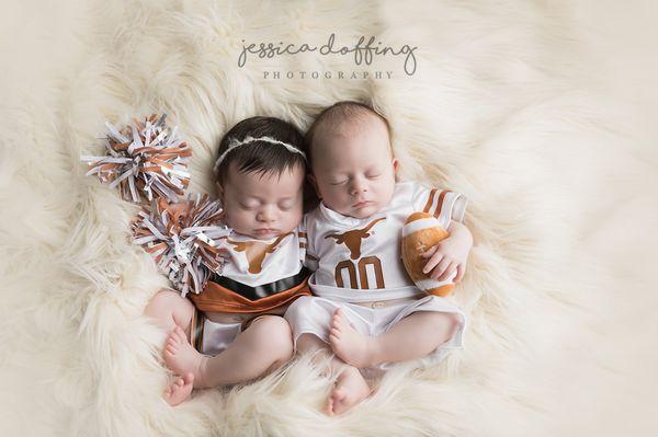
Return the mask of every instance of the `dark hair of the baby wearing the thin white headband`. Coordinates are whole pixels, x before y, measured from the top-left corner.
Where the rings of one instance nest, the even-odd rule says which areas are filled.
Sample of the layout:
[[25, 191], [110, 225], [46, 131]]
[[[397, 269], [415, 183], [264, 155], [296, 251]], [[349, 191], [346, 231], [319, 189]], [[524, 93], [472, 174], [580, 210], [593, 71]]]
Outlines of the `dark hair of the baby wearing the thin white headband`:
[[[222, 137], [217, 159], [224, 154], [232, 140], [241, 141], [247, 137], [270, 137], [306, 151], [304, 136], [295, 126], [280, 118], [258, 116], [241, 120]], [[263, 175], [281, 174], [296, 165], [306, 170], [306, 161], [300, 153], [292, 152], [283, 145], [252, 141], [229, 151], [219, 166], [215, 168], [216, 181], [222, 186], [226, 182], [231, 163], [235, 163], [240, 172]]]

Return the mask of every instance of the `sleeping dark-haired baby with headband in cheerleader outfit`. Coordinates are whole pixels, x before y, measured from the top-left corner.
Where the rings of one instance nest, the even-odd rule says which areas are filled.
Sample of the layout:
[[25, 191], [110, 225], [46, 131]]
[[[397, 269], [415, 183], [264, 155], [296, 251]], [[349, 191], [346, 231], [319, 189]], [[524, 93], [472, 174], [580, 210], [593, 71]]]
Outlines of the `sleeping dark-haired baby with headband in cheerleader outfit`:
[[222, 272], [198, 294], [159, 291], [145, 313], [169, 337], [163, 358], [177, 376], [164, 399], [177, 405], [193, 388], [247, 382], [293, 356], [288, 304], [310, 295], [299, 230], [306, 176], [304, 137], [277, 118], [252, 117], [222, 139], [215, 164], [230, 233]]

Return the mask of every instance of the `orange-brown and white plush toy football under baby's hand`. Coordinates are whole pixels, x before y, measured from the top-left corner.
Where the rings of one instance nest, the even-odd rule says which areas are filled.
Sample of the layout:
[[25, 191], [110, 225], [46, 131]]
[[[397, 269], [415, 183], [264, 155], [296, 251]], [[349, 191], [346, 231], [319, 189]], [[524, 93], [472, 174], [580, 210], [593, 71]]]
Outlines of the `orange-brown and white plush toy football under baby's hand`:
[[427, 212], [413, 212], [402, 227], [402, 262], [413, 284], [429, 295], [450, 296], [455, 288], [453, 283], [456, 272], [447, 280], [439, 281], [422, 273], [429, 258], [422, 254], [436, 245], [450, 234], [441, 227], [434, 216]]

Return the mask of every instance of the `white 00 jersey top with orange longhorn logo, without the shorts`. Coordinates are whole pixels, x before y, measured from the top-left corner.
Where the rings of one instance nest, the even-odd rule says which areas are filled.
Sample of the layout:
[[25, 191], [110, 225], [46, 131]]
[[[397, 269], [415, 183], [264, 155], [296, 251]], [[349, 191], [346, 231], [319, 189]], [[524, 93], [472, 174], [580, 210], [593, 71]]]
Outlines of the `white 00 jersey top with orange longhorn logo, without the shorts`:
[[[419, 294], [401, 260], [401, 229], [417, 211], [432, 214], [447, 229], [463, 221], [466, 198], [417, 182], [397, 183], [388, 206], [365, 219], [343, 216], [320, 204], [305, 217], [307, 265], [314, 294], [345, 301], [372, 301]], [[429, 248], [428, 248], [429, 249]], [[445, 280], [452, 284], [456, 273]]]

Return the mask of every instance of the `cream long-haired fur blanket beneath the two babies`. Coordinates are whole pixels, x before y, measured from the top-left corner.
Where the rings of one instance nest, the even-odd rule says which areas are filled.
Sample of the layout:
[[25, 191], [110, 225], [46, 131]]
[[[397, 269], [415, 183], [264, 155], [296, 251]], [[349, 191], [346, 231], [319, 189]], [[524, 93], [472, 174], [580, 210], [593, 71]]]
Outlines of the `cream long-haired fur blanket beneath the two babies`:
[[[650, 2], [12, 3], [0, 18], [0, 435], [656, 435]], [[317, 54], [238, 67], [242, 39], [331, 33], [418, 46], [417, 71]], [[394, 74], [283, 76], [339, 70]], [[141, 315], [167, 283], [127, 240], [135, 207], [84, 177], [79, 156], [101, 150], [105, 119], [164, 111], [194, 147], [191, 189], [206, 192], [235, 123], [306, 128], [358, 97], [389, 117], [404, 177], [470, 200], [466, 349], [390, 371], [340, 418], [319, 412], [330, 382], [304, 360], [169, 407], [164, 333]]]

